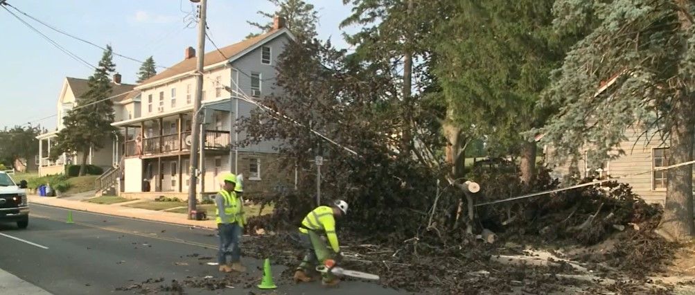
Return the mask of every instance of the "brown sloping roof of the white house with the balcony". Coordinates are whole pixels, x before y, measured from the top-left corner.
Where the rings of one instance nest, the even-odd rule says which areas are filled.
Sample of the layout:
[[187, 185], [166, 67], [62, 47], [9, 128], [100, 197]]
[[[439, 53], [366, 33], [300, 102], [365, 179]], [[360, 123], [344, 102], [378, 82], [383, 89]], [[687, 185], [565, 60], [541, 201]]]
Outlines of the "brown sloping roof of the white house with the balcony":
[[[203, 66], [207, 67], [209, 65], [215, 65], [217, 63], [223, 62], [224, 60], [227, 60], [228, 58], [232, 58], [233, 56], [236, 56], [239, 53], [242, 53], [243, 51], [250, 49], [251, 47], [254, 47], [254, 45], [262, 42], [267, 37], [275, 35], [275, 33], [278, 33], [279, 31], [289, 32], [284, 28], [275, 29], [275, 30], [269, 31], [268, 33], [264, 33], [264, 34], [258, 35], [256, 37], [251, 37], [247, 40], [243, 40], [242, 42], [231, 44], [227, 47], [222, 47], [222, 48], [220, 48], [219, 51], [217, 49], [215, 49], [214, 51], [210, 51], [208, 53], [205, 53]], [[220, 53], [220, 51], [222, 51], [222, 53]], [[196, 54], [199, 54], [199, 53], [196, 53]], [[163, 80], [166, 78], [171, 78], [173, 76], [177, 76], [179, 74], [183, 74], [183, 73], [186, 73], [188, 71], [193, 71], [196, 68], [196, 63], [197, 63], [197, 58], [188, 58], [186, 60], [183, 60], [182, 62], [177, 63], [176, 65], [173, 65], [172, 67], [165, 69], [161, 73], [156, 74], [145, 81], [142, 81], [142, 83], [140, 83], [140, 85], [146, 85], [146, 84], [160, 81], [160, 80]]]

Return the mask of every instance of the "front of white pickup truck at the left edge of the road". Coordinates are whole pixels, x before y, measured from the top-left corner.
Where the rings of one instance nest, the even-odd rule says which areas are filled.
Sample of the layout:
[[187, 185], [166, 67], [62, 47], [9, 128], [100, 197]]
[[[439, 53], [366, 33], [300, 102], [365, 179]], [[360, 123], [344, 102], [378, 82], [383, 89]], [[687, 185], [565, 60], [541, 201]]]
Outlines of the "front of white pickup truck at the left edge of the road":
[[0, 222], [17, 222], [19, 228], [29, 225], [26, 181], [15, 183], [9, 174], [0, 171]]

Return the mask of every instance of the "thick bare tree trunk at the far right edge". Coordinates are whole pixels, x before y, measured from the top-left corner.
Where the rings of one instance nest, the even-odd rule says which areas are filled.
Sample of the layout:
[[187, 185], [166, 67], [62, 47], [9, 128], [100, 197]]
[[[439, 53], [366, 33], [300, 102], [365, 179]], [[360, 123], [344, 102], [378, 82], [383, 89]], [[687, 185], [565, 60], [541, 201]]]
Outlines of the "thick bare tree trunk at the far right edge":
[[[679, 20], [681, 31], [687, 32], [692, 26], [688, 11], [688, 1], [678, 1], [681, 8]], [[683, 55], [687, 52], [687, 40], [682, 40]], [[687, 80], [692, 77], [682, 77]], [[689, 85], [687, 85], [689, 86]], [[693, 132], [695, 129], [692, 114], [695, 111], [695, 97], [687, 86], [681, 87], [676, 93], [671, 109], [671, 146], [669, 147], [669, 164], [679, 164], [692, 161]], [[692, 165], [669, 169], [664, 217], [660, 225], [660, 235], [671, 240], [685, 240], [692, 237], [695, 231], [693, 224], [693, 195], [692, 195]]]

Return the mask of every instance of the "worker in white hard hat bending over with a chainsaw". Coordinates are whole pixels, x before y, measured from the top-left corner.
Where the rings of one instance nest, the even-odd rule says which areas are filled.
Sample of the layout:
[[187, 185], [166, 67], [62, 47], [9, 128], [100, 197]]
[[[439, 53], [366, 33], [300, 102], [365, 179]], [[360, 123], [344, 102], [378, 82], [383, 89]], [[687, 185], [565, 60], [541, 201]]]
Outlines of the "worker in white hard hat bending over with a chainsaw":
[[[307, 271], [316, 269], [319, 263], [326, 260], [340, 260], [342, 255], [338, 246], [334, 217], [342, 214], [347, 214], [347, 203], [341, 200], [336, 201], [332, 207], [320, 206], [306, 214], [300, 226], [302, 246], [306, 248], [306, 255], [295, 271], [295, 282], [310, 282], [311, 277], [307, 276]], [[330, 249], [322, 241], [322, 235], [327, 237]], [[340, 282], [330, 271], [321, 273], [321, 276], [323, 285], [333, 286]]]

